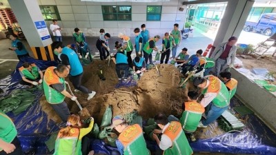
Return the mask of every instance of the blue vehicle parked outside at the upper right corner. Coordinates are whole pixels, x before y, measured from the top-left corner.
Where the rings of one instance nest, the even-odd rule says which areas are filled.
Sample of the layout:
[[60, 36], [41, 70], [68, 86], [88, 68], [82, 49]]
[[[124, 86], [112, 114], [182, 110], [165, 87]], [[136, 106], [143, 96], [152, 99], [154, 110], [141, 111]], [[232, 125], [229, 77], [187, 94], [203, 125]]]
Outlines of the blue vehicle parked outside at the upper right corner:
[[244, 30], [271, 36], [276, 32], [276, 13], [262, 14], [258, 22], [246, 21]]

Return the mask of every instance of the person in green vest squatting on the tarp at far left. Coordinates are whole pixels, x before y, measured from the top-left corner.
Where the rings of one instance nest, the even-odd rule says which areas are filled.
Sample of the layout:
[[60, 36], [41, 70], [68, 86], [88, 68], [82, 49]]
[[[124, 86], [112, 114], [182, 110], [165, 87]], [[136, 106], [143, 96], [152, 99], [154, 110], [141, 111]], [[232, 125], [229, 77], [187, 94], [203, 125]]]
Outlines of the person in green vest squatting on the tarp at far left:
[[21, 85], [33, 87], [42, 83], [43, 72], [34, 63], [23, 63], [21, 68], [19, 68], [19, 74], [22, 77], [22, 81], [20, 81]]

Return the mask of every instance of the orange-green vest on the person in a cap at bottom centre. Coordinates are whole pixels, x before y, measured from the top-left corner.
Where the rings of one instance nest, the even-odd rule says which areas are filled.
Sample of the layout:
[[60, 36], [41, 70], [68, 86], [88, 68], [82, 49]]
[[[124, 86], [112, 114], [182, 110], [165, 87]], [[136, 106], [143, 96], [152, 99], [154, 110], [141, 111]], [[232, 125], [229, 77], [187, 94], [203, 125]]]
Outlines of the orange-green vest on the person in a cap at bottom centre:
[[148, 155], [143, 130], [138, 124], [128, 126], [118, 137], [124, 145], [124, 155]]

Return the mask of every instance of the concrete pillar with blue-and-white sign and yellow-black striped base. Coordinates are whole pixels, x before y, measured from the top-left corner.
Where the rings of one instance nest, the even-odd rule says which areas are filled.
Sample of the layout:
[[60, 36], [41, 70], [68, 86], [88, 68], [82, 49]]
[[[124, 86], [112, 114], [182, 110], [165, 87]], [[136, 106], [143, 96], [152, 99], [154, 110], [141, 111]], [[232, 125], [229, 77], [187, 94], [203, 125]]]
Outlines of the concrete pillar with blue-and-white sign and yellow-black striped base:
[[46, 22], [35, 0], [8, 0], [35, 59], [54, 60]]

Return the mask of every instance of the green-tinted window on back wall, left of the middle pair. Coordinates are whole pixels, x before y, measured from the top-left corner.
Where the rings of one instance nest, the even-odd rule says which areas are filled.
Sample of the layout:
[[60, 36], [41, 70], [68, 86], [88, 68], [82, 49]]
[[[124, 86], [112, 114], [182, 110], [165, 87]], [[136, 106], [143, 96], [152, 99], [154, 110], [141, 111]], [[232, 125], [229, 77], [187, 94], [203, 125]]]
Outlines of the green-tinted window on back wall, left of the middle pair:
[[103, 21], [131, 21], [131, 6], [101, 6]]

